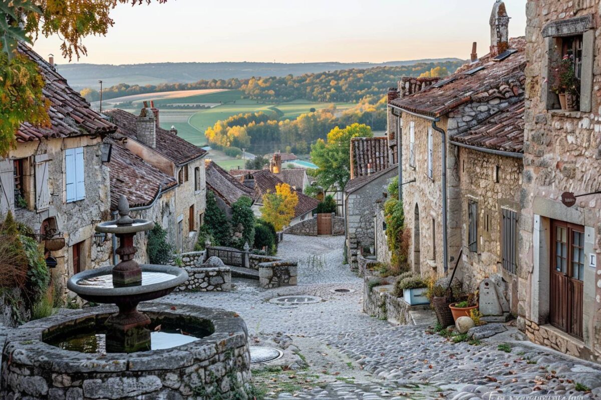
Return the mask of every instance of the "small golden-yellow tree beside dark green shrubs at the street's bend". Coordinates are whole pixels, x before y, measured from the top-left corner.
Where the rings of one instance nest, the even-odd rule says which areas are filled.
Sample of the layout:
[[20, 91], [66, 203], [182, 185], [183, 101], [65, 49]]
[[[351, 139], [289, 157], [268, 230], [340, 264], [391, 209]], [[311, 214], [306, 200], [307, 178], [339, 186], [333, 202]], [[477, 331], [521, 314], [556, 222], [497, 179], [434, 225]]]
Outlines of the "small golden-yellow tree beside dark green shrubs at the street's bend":
[[294, 208], [299, 203], [296, 191], [288, 184], [278, 184], [275, 193], [263, 195], [261, 215], [266, 222], [273, 225], [276, 231], [281, 231], [294, 218]]

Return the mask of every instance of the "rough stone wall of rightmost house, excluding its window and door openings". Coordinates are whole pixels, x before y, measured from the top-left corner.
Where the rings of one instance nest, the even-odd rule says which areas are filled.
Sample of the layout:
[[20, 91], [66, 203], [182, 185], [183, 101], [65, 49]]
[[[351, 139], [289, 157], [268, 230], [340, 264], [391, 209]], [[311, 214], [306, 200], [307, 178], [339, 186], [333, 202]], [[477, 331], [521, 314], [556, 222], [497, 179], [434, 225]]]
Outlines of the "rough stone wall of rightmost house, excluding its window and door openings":
[[[585, 260], [591, 254], [596, 255], [596, 264], [589, 266], [587, 262], [584, 266], [583, 339], [580, 341], [566, 335], [566, 341], [572, 342], [572, 345], [584, 345], [587, 351], [580, 351], [580, 356], [589, 358], [585, 353], [590, 353], [590, 358], [597, 360], [601, 357], [600, 197], [580, 197], [573, 207], [567, 208], [561, 204], [561, 194], [570, 191], [578, 195], [601, 188], [601, 92], [598, 90], [601, 84], [600, 4], [599, 0], [529, 0], [526, 3], [528, 101], [520, 195], [522, 215], [518, 273], [518, 313], [523, 320], [534, 324], [532, 326], [542, 327], [549, 321], [549, 305], [554, 295], [550, 293], [549, 282], [551, 222], [559, 220], [585, 227]], [[582, 83], [588, 81], [593, 89], [590, 92], [581, 91], [581, 100], [592, 96], [591, 112], [548, 110], [548, 102], [549, 107], [557, 108], [554, 104], [557, 98], [550, 91], [552, 82], [548, 79], [549, 53], [554, 52], [557, 41], [553, 37], [543, 37], [543, 28], [548, 23], [560, 20], [569, 23], [572, 17], [590, 15], [592, 26], [596, 25], [596, 28], [587, 28], [583, 32], [583, 67], [586, 61], [592, 60], [593, 70], [587, 76], [583, 68]], [[526, 327], [527, 323], [521, 326], [527, 333]], [[543, 344], [549, 345], [549, 342], [551, 339], [543, 338]], [[559, 347], [561, 351], [563, 345]]]

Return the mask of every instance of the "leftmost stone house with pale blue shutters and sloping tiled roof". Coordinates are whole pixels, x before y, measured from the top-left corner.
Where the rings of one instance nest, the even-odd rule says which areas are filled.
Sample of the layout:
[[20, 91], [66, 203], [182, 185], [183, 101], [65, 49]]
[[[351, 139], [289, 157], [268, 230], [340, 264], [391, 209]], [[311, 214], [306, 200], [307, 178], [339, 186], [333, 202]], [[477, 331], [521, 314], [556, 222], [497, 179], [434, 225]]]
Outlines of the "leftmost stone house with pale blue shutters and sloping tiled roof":
[[16, 148], [0, 160], [0, 212], [33, 228], [56, 258], [55, 282], [66, 288], [74, 273], [104, 263], [94, 226], [109, 218], [108, 145], [103, 139], [117, 130], [90, 108], [84, 98], [25, 44], [19, 51], [32, 59], [46, 81], [50, 126], [23, 123]]

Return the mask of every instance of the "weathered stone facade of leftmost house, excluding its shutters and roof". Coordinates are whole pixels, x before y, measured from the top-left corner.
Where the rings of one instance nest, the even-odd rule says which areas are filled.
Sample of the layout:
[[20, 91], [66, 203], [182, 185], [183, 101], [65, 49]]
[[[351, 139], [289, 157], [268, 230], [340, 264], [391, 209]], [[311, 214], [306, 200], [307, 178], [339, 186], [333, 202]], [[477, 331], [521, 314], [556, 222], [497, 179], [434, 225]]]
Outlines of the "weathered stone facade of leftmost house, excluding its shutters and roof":
[[[73, 148], [84, 149], [85, 198], [67, 202], [65, 151]], [[15, 209], [14, 204], [7, 204], [7, 201], [2, 199], [2, 213], [5, 215], [10, 209], [17, 221], [33, 228], [36, 233], [40, 233], [44, 221], [52, 220], [53, 227], [58, 231], [53, 239], [58, 237], [65, 240], [62, 249], [50, 252], [58, 261], [56, 268], [51, 270], [52, 278], [65, 290], [67, 279], [73, 275], [74, 245], [81, 249], [80, 270], [101, 266], [108, 261], [108, 255], [103, 248], [94, 243], [95, 225], [110, 218], [109, 170], [102, 163], [101, 148], [100, 137], [49, 139], [19, 143], [17, 148], [10, 152], [10, 160], [1, 161], [10, 167], [12, 174], [12, 160], [23, 160], [23, 199], [26, 203], [26, 207]], [[35, 176], [40, 160], [47, 163], [46, 179], [51, 196], [46, 204], [37, 201], [40, 193], [36, 192], [36, 180], [43, 179], [41, 176]], [[13, 187], [7, 187], [5, 190], [13, 190]]]

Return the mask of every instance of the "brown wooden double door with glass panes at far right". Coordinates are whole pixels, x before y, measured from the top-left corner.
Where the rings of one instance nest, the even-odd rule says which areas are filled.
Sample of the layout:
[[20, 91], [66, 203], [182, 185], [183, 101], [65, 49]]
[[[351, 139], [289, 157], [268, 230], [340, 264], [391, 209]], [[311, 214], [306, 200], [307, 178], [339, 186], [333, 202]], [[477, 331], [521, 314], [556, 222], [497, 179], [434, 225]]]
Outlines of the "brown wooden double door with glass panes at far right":
[[553, 221], [551, 230], [549, 321], [582, 339], [584, 227]]

